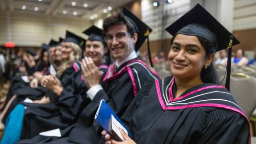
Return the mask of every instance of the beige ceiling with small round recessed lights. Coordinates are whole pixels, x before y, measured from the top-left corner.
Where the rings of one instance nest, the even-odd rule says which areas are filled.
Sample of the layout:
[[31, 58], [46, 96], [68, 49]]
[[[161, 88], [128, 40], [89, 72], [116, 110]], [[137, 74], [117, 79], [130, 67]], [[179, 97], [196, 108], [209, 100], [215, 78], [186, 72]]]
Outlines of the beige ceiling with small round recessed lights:
[[[2, 11], [94, 19], [134, 0], [0, 0]], [[72, 2], [74, 5], [72, 6]], [[111, 7], [111, 8], [109, 8]], [[108, 10], [109, 8], [109, 10]]]

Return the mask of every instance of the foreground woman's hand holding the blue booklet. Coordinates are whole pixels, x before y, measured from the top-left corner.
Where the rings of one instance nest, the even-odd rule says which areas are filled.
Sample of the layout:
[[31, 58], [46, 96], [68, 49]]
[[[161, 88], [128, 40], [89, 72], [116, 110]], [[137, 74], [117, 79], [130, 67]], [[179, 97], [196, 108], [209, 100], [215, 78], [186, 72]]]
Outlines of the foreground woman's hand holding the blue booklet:
[[124, 139], [124, 141], [116, 141], [114, 139], [111, 139], [110, 135], [106, 133], [106, 131], [102, 131], [101, 134], [102, 135], [105, 135], [105, 139], [106, 139], [106, 142], [105, 144], [136, 144], [135, 141], [133, 141], [133, 139], [131, 139], [125, 132], [123, 129], [120, 129], [119, 128], [119, 131]]

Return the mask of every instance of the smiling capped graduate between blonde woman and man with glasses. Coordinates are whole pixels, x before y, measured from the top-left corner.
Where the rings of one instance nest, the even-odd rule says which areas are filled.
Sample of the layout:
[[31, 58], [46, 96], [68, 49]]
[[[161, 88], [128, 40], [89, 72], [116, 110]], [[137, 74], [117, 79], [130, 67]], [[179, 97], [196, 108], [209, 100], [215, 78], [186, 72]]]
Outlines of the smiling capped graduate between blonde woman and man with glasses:
[[[98, 67], [98, 72], [100, 75], [100, 83], [105, 76], [106, 70], [108, 69], [108, 66], [105, 65], [105, 59], [104, 55], [108, 51], [108, 48], [106, 47], [106, 42], [102, 35], [102, 30], [96, 26], [91, 26], [86, 31], [83, 32], [84, 34], [87, 34], [89, 36], [88, 40], [85, 43], [85, 49], [84, 49], [84, 55], [91, 57], [92, 61], [95, 63], [95, 65]], [[77, 69], [80, 69], [80, 67], [77, 67]], [[69, 119], [73, 119], [72, 123], [70, 123], [67, 127], [56, 127], [61, 129], [61, 137], [55, 137], [55, 135], [47, 135], [44, 134], [37, 135], [31, 139], [25, 139], [20, 140], [18, 143], [36, 143], [41, 140], [43, 141], [53, 141], [66, 137], [69, 132], [74, 127], [75, 122], [77, 122], [77, 119], [79, 118], [79, 115], [84, 107], [86, 107], [90, 103], [90, 99], [87, 98], [86, 92], [87, 88], [84, 84], [84, 77], [82, 74], [83, 71], [79, 71], [78, 74], [75, 76], [75, 81], [73, 83], [73, 88], [75, 93], [78, 93], [77, 95], [74, 95], [74, 93], [68, 93], [65, 90], [63, 90], [58, 97], [58, 106], [60, 108], [61, 112], [61, 120], [63, 117], [69, 117]], [[67, 118], [66, 118], [67, 120]], [[54, 122], [54, 121], [52, 121]], [[65, 123], [63, 121], [62, 123]], [[52, 129], [51, 129], [52, 130]], [[61, 143], [61, 142], [60, 142]]]

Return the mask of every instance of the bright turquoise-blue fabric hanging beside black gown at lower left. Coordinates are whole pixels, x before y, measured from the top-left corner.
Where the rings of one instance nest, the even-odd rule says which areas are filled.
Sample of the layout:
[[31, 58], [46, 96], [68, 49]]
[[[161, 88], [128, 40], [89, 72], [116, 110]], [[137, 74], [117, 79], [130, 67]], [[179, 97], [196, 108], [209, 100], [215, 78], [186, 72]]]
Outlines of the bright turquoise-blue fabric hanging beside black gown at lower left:
[[24, 113], [25, 106], [18, 104], [9, 114], [1, 144], [14, 144], [19, 140], [20, 134], [22, 133]]

